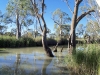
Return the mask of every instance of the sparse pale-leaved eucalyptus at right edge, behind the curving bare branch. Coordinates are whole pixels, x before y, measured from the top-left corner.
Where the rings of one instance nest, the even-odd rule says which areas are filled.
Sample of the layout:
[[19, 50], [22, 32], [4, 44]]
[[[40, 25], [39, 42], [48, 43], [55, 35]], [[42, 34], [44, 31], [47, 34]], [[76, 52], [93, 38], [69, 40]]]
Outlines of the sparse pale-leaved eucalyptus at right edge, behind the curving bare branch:
[[[90, 8], [93, 8], [95, 10], [94, 13], [86, 16], [86, 19], [88, 20], [87, 32], [99, 34], [98, 30], [100, 30], [100, 6], [97, 4], [96, 0], [85, 0], [84, 5], [88, 5], [88, 7], [81, 7], [82, 11]], [[89, 28], [91, 28], [92, 30], [89, 31]]]

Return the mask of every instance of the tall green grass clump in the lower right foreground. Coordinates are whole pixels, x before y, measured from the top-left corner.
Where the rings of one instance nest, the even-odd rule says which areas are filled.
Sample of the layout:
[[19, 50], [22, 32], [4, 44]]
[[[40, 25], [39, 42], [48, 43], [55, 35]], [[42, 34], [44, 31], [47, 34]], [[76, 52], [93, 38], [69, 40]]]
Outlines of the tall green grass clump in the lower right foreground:
[[100, 75], [100, 46], [91, 44], [75, 55], [66, 57], [67, 68], [72, 75]]

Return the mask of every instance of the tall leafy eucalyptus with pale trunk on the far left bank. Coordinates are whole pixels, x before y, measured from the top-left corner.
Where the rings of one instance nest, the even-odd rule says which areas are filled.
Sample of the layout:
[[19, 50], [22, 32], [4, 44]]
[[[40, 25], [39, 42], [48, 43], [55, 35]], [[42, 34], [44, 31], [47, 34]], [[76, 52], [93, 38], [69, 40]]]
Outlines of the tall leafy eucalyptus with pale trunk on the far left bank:
[[[30, 19], [26, 19], [28, 15], [28, 8], [30, 5], [28, 4], [29, 0], [9, 0], [7, 4], [7, 17], [10, 18], [10, 23], [16, 23], [17, 33], [16, 38], [21, 37], [21, 26], [27, 25], [28, 23], [32, 23]], [[26, 24], [27, 23], [27, 24]]]

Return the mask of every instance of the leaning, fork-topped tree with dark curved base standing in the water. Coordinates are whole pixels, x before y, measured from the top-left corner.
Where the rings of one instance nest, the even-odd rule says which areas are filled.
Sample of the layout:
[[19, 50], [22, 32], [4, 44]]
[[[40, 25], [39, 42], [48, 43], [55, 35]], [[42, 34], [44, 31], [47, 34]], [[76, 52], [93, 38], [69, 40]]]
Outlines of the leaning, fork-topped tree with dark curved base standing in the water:
[[[44, 19], [44, 10], [45, 10], [45, 3], [44, 0], [30, 0], [33, 6], [34, 14], [38, 19], [40, 29], [42, 31], [42, 45], [43, 49], [45, 50], [47, 56], [54, 57], [51, 49], [48, 47], [47, 44], [47, 25]], [[42, 26], [43, 25], [43, 26]]]

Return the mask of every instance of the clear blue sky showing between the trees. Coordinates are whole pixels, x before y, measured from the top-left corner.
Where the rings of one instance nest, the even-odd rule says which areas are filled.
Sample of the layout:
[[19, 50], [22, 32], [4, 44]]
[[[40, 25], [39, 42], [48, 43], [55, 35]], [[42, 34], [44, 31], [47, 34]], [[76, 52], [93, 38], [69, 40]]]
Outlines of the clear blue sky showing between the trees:
[[[1, 0], [0, 1], [0, 10], [2, 13], [6, 12], [6, 6], [7, 6], [8, 0]], [[46, 10], [45, 10], [45, 20], [47, 23], [47, 27], [51, 30], [51, 32], [54, 32], [54, 22], [51, 19], [52, 17], [52, 12], [56, 10], [57, 8], [60, 8], [62, 11], [66, 12], [69, 14], [69, 16], [72, 18], [72, 13], [69, 11], [67, 5], [63, 0], [45, 0], [46, 3]], [[69, 0], [69, 5], [71, 6], [72, 10], [74, 9], [74, 0]], [[82, 5], [82, 4], [81, 4]], [[86, 24], [86, 19], [82, 19], [79, 24]], [[31, 26], [31, 28], [34, 28], [34, 26]]]

